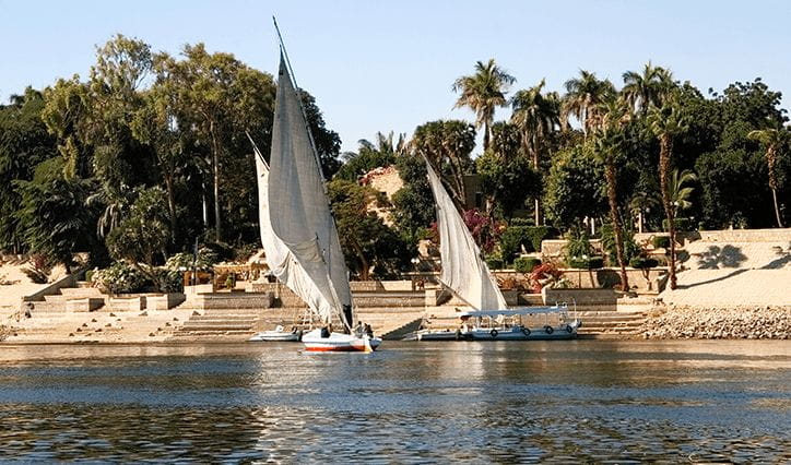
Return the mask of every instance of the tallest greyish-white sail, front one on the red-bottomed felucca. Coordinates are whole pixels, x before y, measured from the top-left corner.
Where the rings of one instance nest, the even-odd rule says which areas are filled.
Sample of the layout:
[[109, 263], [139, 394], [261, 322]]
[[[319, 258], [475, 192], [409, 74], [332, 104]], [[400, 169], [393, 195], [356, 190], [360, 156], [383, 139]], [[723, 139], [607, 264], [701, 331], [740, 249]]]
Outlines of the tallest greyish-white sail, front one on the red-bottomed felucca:
[[346, 264], [298, 98], [281, 56], [268, 187], [271, 228], [287, 249], [281, 262], [285, 284], [321, 320], [339, 314], [351, 326], [351, 311], [343, 311], [352, 305]]

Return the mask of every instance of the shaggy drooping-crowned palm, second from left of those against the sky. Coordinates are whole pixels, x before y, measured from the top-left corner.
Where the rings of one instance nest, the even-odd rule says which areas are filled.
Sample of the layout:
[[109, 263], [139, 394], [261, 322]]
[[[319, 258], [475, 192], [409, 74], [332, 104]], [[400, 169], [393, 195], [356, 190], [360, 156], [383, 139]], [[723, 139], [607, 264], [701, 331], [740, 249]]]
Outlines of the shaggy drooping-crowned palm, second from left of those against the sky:
[[[533, 168], [540, 170], [540, 153], [550, 135], [560, 128], [560, 100], [556, 93], [542, 94], [545, 80], [531, 88], [519, 91], [511, 98], [511, 122], [519, 128], [522, 150], [533, 158]], [[535, 225], [542, 223], [541, 201], [535, 199]]]

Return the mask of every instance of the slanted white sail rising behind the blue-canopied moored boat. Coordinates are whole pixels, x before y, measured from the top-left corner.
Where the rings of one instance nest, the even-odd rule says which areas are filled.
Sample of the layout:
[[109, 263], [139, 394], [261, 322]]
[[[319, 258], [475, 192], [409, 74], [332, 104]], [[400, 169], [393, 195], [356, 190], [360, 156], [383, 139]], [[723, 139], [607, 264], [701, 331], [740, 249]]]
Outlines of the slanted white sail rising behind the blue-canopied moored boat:
[[476, 310], [507, 309], [503, 293], [481, 259], [481, 250], [428, 162], [426, 169], [437, 204], [439, 253], [442, 259], [440, 281]]

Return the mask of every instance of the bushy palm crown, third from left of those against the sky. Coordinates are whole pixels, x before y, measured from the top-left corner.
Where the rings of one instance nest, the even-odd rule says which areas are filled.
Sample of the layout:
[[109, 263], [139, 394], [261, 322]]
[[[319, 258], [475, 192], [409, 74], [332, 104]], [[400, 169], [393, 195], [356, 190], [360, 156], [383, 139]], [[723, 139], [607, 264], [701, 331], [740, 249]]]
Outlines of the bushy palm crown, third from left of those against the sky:
[[579, 78], [566, 81], [563, 115], [574, 116], [582, 124], [586, 136], [597, 128], [601, 120], [600, 105], [612, 99], [615, 86], [610, 80], [600, 81], [595, 73], [579, 71]]

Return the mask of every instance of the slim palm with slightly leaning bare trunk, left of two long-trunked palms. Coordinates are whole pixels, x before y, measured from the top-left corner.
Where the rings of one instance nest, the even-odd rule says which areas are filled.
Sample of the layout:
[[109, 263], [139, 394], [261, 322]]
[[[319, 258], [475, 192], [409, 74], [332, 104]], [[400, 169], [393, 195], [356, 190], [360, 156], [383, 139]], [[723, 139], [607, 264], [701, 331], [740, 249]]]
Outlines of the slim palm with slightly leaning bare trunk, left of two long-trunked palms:
[[621, 223], [617, 202], [617, 177], [615, 175], [615, 158], [623, 150], [624, 126], [628, 122], [626, 102], [617, 99], [600, 107], [602, 123], [595, 131], [595, 154], [604, 163], [604, 178], [607, 184], [607, 202], [610, 203], [610, 220], [615, 235], [615, 255], [621, 266], [621, 289], [629, 290], [629, 281], [626, 276], [626, 258], [624, 253], [624, 227]]

